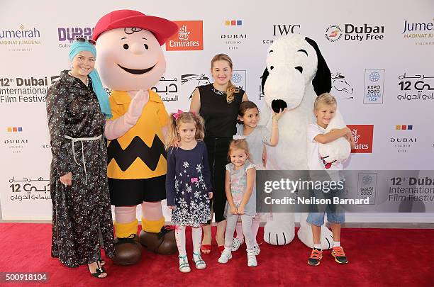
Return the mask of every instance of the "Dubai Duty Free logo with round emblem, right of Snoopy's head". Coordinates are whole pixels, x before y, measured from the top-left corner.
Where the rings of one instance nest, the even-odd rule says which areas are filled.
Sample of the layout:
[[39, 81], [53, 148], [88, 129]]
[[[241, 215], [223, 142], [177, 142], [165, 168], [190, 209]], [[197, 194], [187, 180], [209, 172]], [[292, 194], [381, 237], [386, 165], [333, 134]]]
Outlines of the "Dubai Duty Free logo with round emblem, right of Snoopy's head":
[[325, 29], [325, 38], [330, 42], [336, 42], [343, 38], [348, 41], [369, 41], [369, 40], [383, 40], [384, 39], [384, 26], [374, 26], [367, 23], [356, 25], [352, 23], [344, 24], [344, 28], [339, 25], [333, 24]]

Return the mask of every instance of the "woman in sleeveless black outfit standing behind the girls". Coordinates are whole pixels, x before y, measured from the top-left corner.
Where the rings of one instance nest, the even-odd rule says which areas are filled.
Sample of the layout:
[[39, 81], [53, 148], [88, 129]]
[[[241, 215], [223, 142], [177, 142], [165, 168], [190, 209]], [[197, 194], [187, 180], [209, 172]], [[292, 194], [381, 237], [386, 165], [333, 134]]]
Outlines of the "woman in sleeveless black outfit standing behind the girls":
[[[225, 173], [228, 164], [228, 147], [236, 133], [238, 108], [248, 101], [247, 94], [230, 81], [233, 64], [230, 57], [218, 54], [211, 60], [213, 84], [198, 86], [191, 99], [190, 111], [200, 114], [205, 120], [206, 149], [211, 169], [213, 186], [212, 210], [217, 223], [216, 241], [220, 252], [224, 249], [226, 219], [223, 212], [226, 204]], [[211, 223], [211, 222], [210, 222]], [[211, 225], [204, 225], [204, 240], [201, 251], [211, 252]]]

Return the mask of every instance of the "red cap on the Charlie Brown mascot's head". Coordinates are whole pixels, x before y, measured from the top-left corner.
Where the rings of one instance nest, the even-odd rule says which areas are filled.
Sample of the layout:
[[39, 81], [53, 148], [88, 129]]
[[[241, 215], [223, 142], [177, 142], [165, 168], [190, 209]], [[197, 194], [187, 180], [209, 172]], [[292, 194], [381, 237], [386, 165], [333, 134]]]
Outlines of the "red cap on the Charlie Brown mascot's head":
[[163, 45], [174, 33], [177, 33], [176, 23], [165, 18], [147, 16], [134, 10], [112, 11], [99, 19], [96, 23], [92, 39], [98, 39], [101, 33], [118, 28], [142, 28], [155, 35], [158, 43]]

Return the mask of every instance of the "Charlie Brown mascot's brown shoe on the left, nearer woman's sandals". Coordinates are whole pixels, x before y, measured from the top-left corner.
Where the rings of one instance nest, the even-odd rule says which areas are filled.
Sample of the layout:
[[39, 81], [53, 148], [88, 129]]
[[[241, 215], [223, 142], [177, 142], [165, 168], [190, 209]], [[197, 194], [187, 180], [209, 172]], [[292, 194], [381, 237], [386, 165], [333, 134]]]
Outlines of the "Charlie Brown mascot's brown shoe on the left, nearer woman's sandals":
[[137, 235], [135, 234], [126, 238], [116, 237], [114, 246], [115, 257], [113, 257], [113, 264], [133, 265], [137, 264], [142, 257], [143, 247], [138, 242]]

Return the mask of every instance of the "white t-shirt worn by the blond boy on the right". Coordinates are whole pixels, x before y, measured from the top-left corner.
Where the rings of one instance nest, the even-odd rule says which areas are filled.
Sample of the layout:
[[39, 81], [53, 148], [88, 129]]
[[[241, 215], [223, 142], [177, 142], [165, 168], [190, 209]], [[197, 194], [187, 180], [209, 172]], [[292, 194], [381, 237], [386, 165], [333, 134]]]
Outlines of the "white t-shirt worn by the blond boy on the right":
[[322, 135], [325, 129], [321, 128], [316, 123], [308, 125], [307, 130], [307, 150], [308, 150], [308, 169], [309, 170], [343, 170], [342, 163], [333, 163], [330, 169], [325, 169], [323, 161], [319, 155], [319, 142], [313, 140], [317, 135]]

